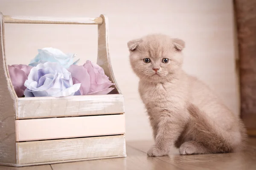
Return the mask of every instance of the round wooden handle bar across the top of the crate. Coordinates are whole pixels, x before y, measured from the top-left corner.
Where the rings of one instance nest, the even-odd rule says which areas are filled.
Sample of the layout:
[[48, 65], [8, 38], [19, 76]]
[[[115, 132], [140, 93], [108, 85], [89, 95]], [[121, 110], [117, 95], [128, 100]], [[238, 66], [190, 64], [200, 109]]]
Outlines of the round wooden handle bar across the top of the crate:
[[102, 17], [86, 18], [59, 18], [59, 17], [26, 17], [26, 16], [4, 16], [4, 23], [23, 24], [102, 24]]

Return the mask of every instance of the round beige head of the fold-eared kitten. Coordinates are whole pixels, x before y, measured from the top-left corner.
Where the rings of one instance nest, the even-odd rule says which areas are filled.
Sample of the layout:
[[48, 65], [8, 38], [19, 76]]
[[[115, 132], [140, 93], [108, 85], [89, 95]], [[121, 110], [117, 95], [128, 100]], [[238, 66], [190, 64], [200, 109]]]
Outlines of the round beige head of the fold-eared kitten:
[[142, 80], [165, 82], [173, 78], [183, 63], [185, 42], [162, 34], [151, 34], [127, 43], [130, 63]]

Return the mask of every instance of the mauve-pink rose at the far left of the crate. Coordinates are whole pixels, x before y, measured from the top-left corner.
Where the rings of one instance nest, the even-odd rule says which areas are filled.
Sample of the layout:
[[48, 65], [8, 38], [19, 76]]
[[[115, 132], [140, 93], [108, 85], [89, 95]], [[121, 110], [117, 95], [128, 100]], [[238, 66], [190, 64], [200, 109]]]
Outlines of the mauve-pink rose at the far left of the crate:
[[12, 85], [18, 97], [22, 97], [24, 95], [24, 91], [26, 89], [24, 82], [28, 78], [31, 68], [31, 66], [23, 64], [8, 65]]

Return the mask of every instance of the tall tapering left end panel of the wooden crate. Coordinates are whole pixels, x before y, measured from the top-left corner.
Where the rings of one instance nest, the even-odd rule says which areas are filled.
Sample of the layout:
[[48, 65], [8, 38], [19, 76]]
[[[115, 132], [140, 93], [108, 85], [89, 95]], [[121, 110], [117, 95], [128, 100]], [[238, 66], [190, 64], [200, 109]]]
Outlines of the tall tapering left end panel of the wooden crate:
[[0, 12], [0, 162], [16, 163], [15, 91], [7, 71], [3, 14]]

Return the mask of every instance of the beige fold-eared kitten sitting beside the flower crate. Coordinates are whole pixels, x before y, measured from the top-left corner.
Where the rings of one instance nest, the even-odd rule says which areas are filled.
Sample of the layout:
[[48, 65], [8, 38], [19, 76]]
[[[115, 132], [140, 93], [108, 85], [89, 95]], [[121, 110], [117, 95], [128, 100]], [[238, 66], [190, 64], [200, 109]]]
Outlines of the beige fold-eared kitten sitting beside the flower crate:
[[128, 42], [155, 139], [148, 156], [167, 155], [172, 144], [181, 155], [242, 150], [247, 135], [241, 119], [182, 70], [184, 47], [183, 40], [162, 34]]

